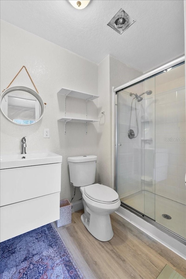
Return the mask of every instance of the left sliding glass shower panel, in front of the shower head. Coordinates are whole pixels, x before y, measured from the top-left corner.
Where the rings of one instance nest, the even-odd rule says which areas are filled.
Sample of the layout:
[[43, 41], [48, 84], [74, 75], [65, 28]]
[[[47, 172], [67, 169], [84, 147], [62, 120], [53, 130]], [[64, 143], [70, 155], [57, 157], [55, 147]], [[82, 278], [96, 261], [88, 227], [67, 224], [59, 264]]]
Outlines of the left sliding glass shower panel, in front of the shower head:
[[155, 219], [153, 96], [154, 80], [117, 93], [117, 192], [121, 202]]

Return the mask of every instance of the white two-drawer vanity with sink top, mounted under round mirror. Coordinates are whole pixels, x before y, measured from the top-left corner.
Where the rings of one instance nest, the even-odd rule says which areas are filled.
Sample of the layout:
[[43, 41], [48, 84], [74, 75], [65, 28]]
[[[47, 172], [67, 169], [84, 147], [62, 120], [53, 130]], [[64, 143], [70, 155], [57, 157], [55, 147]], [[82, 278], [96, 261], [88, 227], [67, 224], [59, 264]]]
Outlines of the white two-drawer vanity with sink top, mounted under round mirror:
[[1, 242], [60, 217], [62, 156], [41, 152], [22, 157], [1, 156]]

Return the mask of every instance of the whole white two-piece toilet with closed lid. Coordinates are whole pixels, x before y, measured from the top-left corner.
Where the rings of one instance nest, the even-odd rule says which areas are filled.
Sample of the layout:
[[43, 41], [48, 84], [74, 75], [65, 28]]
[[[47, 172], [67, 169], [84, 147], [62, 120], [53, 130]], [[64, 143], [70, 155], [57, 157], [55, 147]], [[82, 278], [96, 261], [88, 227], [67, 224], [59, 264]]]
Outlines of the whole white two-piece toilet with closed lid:
[[69, 157], [70, 184], [80, 187], [84, 206], [81, 221], [98, 240], [108, 241], [114, 233], [110, 214], [119, 208], [119, 196], [112, 188], [93, 184], [96, 174], [97, 156]]

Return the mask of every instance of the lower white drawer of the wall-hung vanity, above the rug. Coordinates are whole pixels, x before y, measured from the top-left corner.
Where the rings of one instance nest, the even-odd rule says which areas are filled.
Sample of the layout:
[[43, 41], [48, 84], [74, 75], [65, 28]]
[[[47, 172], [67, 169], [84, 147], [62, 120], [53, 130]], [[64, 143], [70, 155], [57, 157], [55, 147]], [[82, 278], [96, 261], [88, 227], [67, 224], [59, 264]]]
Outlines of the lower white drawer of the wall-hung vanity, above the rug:
[[60, 192], [1, 206], [0, 242], [60, 218]]

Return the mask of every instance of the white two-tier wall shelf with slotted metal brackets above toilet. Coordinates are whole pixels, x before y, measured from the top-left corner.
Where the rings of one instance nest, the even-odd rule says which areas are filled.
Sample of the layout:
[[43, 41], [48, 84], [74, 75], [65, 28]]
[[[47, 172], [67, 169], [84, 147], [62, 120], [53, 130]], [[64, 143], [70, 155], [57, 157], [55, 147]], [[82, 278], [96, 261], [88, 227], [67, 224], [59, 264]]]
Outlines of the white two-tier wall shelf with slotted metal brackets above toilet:
[[[98, 122], [99, 121], [99, 120], [96, 120], [96, 119], [88, 119], [87, 118], [87, 101], [88, 100], [92, 101], [92, 100], [98, 98], [99, 96], [89, 94], [89, 93], [78, 92], [78, 91], [70, 90], [70, 89], [67, 89], [67, 88], [61, 88], [60, 91], [57, 94], [61, 94], [61, 95], [65, 96], [65, 117], [62, 117], [62, 118], [58, 119], [58, 121], [65, 121], [65, 134], [66, 134], [66, 123], [68, 121], [71, 121], [71, 122], [85, 122], [86, 123], [86, 134], [87, 134], [87, 123], [88, 122], [93, 123], [93, 122]], [[82, 118], [66, 117], [66, 96], [86, 100], [86, 118], [82, 119]]]

